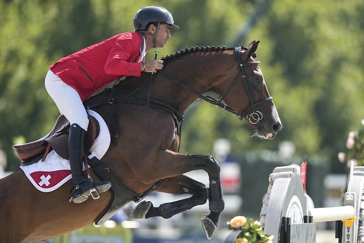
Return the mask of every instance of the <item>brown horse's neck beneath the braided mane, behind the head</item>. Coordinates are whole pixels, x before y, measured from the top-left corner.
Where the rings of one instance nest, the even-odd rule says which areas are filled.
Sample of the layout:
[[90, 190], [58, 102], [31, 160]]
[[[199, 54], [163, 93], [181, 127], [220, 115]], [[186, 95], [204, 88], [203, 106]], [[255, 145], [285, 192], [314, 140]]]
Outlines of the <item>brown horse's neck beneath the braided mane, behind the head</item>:
[[229, 55], [231, 53], [231, 51], [196, 52], [185, 54], [167, 63], [163, 72], [188, 88], [176, 85], [171, 77], [160, 73], [159, 82], [165, 87], [164, 93], [168, 94], [160, 99], [165, 99], [164, 102], [183, 114], [198, 98], [198, 94], [202, 95], [209, 91], [218, 93], [219, 85], [229, 79], [228, 73], [233, 66], [228, 64], [232, 59]]

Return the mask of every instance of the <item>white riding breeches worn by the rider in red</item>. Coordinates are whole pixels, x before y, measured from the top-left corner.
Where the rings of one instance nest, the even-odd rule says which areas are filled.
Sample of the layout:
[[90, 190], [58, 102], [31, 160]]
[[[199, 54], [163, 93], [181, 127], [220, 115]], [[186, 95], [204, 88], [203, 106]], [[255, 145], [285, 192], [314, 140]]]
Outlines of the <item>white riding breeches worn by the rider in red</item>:
[[56, 103], [61, 115], [64, 115], [70, 124], [76, 123], [87, 131], [87, 112], [78, 92], [64, 83], [62, 79], [51, 70], [49, 70], [46, 75], [45, 86], [48, 94]]

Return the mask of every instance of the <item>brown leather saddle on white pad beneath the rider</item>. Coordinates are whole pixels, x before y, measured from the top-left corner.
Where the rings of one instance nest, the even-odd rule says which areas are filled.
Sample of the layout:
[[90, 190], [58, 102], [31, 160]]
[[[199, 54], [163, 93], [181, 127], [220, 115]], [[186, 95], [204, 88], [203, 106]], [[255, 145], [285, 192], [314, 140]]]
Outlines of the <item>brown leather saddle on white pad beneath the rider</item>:
[[[100, 132], [98, 121], [88, 115], [88, 128], [85, 139], [85, 152], [89, 152], [93, 142]], [[13, 145], [13, 149], [17, 152], [22, 165], [30, 165], [42, 158], [47, 157], [51, 149], [54, 149], [59, 156], [68, 159], [68, 135], [70, 123], [65, 116], [61, 115], [52, 130], [41, 139], [24, 144]]]

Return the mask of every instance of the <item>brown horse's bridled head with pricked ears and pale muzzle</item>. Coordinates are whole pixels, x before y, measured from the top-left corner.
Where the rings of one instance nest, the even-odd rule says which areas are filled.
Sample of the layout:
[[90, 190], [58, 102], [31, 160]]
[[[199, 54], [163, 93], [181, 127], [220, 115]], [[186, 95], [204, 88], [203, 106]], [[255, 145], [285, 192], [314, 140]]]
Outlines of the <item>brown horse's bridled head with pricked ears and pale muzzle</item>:
[[236, 111], [240, 120], [246, 119], [256, 129], [255, 136], [273, 139], [282, 124], [259, 68], [260, 62], [254, 59], [258, 44], [259, 41], [253, 41], [248, 48], [235, 48], [238, 73], [232, 74], [235, 76], [231, 82], [221, 83], [219, 91], [221, 99]]

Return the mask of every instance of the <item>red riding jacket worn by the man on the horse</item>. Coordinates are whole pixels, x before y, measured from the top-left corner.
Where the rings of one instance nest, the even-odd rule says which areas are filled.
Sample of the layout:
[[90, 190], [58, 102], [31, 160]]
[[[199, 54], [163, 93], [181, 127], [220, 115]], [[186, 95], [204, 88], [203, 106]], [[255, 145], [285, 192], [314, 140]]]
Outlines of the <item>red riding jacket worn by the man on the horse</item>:
[[84, 102], [120, 76], [140, 76], [142, 38], [136, 32], [115, 35], [60, 59], [50, 70], [73, 87]]

